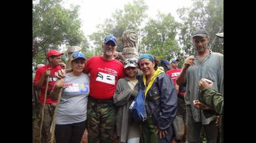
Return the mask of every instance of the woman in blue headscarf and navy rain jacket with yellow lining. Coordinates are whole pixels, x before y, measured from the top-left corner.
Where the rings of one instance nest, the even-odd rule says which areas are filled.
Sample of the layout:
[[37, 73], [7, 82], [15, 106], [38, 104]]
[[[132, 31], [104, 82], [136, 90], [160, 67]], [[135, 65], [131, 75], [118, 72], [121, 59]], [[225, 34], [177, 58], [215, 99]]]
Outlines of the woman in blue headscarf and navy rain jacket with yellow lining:
[[143, 143], [170, 143], [174, 130], [172, 121], [177, 112], [177, 93], [172, 79], [157, 66], [159, 60], [150, 54], [140, 55], [142, 70], [139, 86], [144, 90], [146, 121], [142, 122]]

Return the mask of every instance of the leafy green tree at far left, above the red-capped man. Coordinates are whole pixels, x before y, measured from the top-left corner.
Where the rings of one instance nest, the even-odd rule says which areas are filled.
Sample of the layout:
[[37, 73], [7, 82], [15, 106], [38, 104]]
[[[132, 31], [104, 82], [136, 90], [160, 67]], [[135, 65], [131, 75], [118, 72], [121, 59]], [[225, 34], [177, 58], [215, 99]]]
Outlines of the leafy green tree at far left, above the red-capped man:
[[[60, 45], [80, 45], [87, 39], [78, 19], [79, 6], [65, 9], [62, 0], [39, 0], [32, 4], [32, 58], [45, 63], [46, 52]], [[89, 46], [87, 46], [89, 47]]]

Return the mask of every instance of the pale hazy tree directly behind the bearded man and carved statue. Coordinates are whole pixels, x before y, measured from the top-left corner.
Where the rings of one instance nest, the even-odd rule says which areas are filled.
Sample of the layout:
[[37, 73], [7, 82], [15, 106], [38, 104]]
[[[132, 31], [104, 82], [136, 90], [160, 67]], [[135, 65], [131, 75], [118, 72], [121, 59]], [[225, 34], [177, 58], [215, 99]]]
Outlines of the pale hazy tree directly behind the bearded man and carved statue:
[[122, 52], [124, 46], [121, 43], [122, 33], [127, 29], [135, 29], [140, 31], [140, 24], [147, 17], [145, 11], [148, 6], [144, 0], [134, 0], [132, 4], [124, 5], [124, 9], [116, 9], [112, 17], [106, 19], [104, 24], [97, 25], [97, 32], [89, 35], [89, 39], [94, 40], [96, 45], [96, 55], [101, 54], [101, 44], [106, 35], [112, 34], [117, 37], [117, 51]]

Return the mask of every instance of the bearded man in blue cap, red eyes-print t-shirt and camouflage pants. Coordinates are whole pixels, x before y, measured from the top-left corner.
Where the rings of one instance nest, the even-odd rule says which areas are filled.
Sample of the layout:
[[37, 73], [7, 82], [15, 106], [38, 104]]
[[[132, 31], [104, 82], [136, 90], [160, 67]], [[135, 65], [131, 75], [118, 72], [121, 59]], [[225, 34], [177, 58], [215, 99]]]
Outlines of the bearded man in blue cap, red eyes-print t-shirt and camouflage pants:
[[116, 108], [113, 96], [117, 80], [124, 78], [124, 67], [115, 59], [117, 39], [106, 36], [103, 55], [86, 61], [85, 73], [90, 73], [90, 96], [87, 103], [88, 142], [113, 142]]

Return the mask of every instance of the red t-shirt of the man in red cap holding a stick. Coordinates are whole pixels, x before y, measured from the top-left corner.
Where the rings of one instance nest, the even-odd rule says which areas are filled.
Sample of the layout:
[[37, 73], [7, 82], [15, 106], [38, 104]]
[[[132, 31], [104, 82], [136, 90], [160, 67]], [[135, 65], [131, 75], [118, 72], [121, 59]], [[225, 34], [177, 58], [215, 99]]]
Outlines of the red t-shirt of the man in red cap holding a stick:
[[[50, 66], [45, 65], [45, 66], [40, 67], [36, 70], [36, 76], [35, 76], [35, 79], [34, 79], [34, 84], [37, 83], [37, 81], [40, 80], [41, 76], [44, 76], [44, 72], [47, 70], [47, 68], [50, 68]], [[51, 75], [49, 75], [47, 95], [50, 94], [51, 90], [53, 89], [53, 87], [55, 85], [55, 82], [57, 81], [56, 74], [57, 74], [58, 70], [61, 70], [61, 66], [59, 66], [59, 65], [57, 67], [51, 68]], [[40, 93], [40, 96], [39, 96], [39, 103], [41, 103], [41, 104], [44, 103], [45, 91], [46, 91], [46, 81], [44, 81], [44, 83], [41, 86], [41, 93]], [[46, 97], [46, 104], [52, 104], [52, 103], [57, 103], [57, 100], [56, 101], [51, 101], [50, 97], [47, 96]]]

